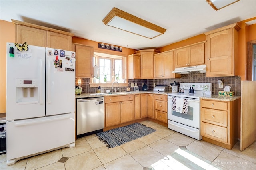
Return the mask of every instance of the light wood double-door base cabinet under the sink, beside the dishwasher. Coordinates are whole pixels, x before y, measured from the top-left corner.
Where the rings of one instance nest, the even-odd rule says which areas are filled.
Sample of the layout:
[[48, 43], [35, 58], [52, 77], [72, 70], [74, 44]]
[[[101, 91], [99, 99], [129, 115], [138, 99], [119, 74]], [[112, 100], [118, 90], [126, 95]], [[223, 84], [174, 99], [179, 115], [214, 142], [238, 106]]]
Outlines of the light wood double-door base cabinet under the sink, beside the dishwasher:
[[134, 119], [134, 95], [105, 97], [105, 127]]

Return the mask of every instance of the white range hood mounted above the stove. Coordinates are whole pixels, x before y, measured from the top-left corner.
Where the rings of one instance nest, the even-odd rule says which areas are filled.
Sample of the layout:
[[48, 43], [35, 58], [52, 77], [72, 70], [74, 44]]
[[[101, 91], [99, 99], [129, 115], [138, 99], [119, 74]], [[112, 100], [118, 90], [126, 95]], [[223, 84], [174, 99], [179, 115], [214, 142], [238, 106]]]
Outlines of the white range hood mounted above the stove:
[[189, 73], [206, 73], [206, 65], [196, 65], [192, 67], [175, 68], [172, 73], [189, 74]]

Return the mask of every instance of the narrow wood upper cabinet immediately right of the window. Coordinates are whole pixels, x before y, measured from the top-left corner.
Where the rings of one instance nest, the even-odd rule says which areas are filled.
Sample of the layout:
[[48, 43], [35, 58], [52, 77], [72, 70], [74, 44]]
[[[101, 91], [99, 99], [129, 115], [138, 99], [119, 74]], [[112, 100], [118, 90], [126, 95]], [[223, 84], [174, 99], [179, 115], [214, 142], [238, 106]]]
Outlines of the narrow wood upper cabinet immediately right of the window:
[[128, 55], [128, 79], [140, 79], [139, 55]]

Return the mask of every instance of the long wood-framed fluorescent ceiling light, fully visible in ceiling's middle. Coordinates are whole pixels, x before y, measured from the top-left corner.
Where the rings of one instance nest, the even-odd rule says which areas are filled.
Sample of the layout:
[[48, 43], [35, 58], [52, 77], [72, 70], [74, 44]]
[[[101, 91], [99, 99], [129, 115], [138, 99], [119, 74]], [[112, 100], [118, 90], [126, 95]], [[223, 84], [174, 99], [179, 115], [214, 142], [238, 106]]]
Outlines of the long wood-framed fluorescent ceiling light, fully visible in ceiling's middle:
[[142, 20], [117, 8], [113, 8], [102, 22], [105, 25], [119, 28], [150, 39], [164, 34], [166, 31], [166, 29], [160, 26]]

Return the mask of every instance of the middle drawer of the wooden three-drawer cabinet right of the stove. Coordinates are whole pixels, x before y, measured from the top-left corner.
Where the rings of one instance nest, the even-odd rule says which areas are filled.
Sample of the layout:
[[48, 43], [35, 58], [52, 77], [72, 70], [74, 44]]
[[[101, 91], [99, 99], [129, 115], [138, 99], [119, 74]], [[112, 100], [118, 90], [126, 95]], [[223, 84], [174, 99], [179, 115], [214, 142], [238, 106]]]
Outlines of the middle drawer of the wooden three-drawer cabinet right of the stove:
[[227, 126], [227, 111], [202, 108], [201, 117], [203, 122]]

